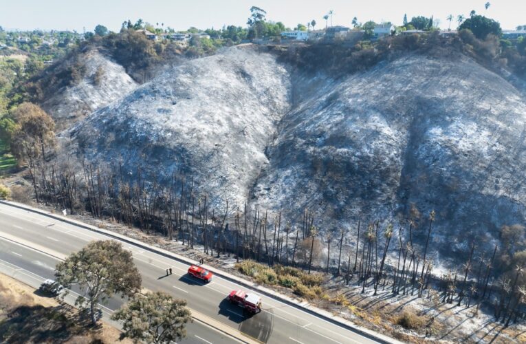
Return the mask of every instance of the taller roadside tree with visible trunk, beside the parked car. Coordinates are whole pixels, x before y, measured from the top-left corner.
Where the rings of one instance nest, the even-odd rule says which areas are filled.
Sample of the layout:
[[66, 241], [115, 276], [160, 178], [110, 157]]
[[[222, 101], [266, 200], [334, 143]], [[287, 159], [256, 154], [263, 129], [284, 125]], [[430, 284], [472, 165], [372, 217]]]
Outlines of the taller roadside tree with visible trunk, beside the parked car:
[[141, 288], [141, 275], [133, 264], [131, 252], [114, 240], [90, 242], [56, 264], [55, 276], [66, 288], [78, 283], [80, 290], [85, 290], [76, 305], [89, 309], [94, 324], [99, 302], [104, 303], [113, 294], [132, 297]]

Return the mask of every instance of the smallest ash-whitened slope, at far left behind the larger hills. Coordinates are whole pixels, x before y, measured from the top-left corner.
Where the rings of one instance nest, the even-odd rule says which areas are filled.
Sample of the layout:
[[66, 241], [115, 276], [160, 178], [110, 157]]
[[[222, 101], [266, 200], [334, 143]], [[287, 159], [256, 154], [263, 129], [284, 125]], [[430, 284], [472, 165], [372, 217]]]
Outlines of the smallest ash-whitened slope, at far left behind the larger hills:
[[62, 87], [42, 103], [58, 129], [66, 129], [138, 87], [124, 67], [97, 50], [79, 54], [76, 68], [82, 74], [80, 80]]

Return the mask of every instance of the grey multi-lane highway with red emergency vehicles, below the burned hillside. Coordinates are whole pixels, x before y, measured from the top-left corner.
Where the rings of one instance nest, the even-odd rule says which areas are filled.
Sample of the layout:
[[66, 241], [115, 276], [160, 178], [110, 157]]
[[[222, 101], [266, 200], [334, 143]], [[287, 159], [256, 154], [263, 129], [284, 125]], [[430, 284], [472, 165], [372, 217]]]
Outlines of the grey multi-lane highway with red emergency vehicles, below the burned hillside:
[[[89, 241], [109, 239], [44, 215], [0, 204], [0, 264], [12, 264], [42, 278], [52, 278], [58, 259], [78, 251]], [[186, 274], [188, 266], [155, 252], [123, 243], [131, 250], [142, 274], [142, 286], [186, 299], [188, 307], [213, 321], [238, 330], [263, 343], [376, 343], [317, 316], [276, 299], [263, 296], [263, 311], [243, 315], [241, 308], [226, 301], [231, 290], [246, 289], [215, 276], [208, 284]], [[173, 275], [166, 276], [166, 268]], [[122, 301], [113, 300], [109, 310]], [[181, 343], [232, 343], [232, 338], [197, 321], [188, 325]]]

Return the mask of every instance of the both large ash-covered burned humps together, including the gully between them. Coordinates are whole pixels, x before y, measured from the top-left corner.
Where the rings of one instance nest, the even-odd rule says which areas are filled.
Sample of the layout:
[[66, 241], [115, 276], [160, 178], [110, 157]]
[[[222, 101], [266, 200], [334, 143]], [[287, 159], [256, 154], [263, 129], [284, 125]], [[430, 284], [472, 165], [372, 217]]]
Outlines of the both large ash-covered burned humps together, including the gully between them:
[[63, 142], [131, 178], [183, 171], [219, 212], [248, 203], [294, 224], [308, 208], [325, 232], [435, 209], [446, 256], [524, 222], [526, 104], [474, 58], [415, 50], [334, 74], [262, 49], [173, 67]]

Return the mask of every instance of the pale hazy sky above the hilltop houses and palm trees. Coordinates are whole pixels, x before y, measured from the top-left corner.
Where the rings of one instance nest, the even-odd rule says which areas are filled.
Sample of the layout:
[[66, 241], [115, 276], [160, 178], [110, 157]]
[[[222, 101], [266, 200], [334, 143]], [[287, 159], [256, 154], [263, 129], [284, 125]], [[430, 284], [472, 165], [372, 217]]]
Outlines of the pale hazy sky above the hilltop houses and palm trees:
[[[7, 29], [33, 30], [94, 30], [102, 24], [110, 30], [120, 30], [122, 21], [142, 18], [149, 23], [164, 23], [175, 30], [221, 28], [223, 25], [246, 25], [251, 6], [267, 11], [267, 19], [282, 21], [294, 27], [315, 19], [317, 27], [325, 26], [322, 18], [334, 11], [333, 25], [351, 25], [353, 17], [364, 22], [373, 20], [401, 24], [404, 13], [412, 16], [434, 16], [447, 28], [448, 14], [468, 15], [471, 10], [485, 14], [501, 23], [503, 29], [526, 25], [526, 0], [0, 0], [0, 25]], [[330, 25], [330, 23], [329, 23]], [[452, 28], [456, 27], [452, 23]]]

